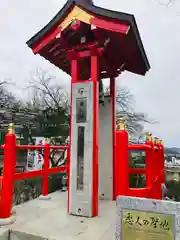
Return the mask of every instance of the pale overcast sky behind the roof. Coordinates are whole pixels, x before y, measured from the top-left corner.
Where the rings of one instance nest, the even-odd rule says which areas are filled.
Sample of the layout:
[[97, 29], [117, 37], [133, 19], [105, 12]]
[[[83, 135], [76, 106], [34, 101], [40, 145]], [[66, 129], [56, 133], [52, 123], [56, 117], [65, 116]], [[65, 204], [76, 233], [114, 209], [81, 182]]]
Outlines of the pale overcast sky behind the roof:
[[[145, 77], [124, 72], [117, 84], [135, 95], [135, 107], [159, 124], [146, 128], [166, 145], [180, 147], [180, 1], [165, 7], [168, 0], [96, 0], [95, 5], [135, 15], [151, 64]], [[39, 31], [64, 5], [63, 0], [0, 0], [0, 79], [12, 79], [17, 95], [29, 74], [42, 68], [56, 75], [62, 84], [69, 77], [39, 56], [25, 42]], [[179, 11], [178, 11], [179, 10]], [[22, 91], [23, 90], [23, 91]]]

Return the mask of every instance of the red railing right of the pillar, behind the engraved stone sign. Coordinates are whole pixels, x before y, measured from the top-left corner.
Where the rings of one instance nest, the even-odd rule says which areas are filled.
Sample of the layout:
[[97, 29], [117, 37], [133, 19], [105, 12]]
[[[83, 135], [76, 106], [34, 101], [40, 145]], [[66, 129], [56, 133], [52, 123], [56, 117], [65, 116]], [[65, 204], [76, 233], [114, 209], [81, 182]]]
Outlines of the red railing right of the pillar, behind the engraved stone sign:
[[[129, 167], [129, 151], [145, 151], [145, 169]], [[165, 183], [164, 146], [159, 141], [129, 144], [128, 132], [116, 132], [115, 192], [118, 195], [162, 199], [161, 185]], [[130, 188], [129, 175], [144, 174], [146, 187]]]

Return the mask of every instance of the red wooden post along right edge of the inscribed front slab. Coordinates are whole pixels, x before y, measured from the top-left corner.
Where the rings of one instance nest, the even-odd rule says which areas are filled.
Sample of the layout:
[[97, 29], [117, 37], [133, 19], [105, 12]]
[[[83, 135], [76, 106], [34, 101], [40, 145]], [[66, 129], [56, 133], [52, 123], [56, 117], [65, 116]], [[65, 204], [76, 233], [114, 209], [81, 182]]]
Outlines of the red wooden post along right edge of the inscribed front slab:
[[93, 82], [93, 109], [94, 109], [94, 122], [93, 122], [93, 190], [92, 202], [93, 216], [98, 216], [98, 115], [99, 115], [99, 57], [97, 51], [91, 51], [91, 80]]

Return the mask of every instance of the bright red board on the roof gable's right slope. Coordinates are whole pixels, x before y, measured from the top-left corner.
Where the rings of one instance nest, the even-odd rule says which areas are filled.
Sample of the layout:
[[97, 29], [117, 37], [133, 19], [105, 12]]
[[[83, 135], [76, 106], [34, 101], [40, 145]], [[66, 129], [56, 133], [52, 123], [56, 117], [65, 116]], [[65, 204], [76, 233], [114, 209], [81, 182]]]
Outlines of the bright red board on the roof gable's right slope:
[[99, 18], [91, 18], [90, 23], [98, 28], [103, 28], [105, 30], [119, 32], [122, 34], [127, 34], [129, 30], [129, 25], [122, 23], [114, 23], [113, 21], [107, 21]]

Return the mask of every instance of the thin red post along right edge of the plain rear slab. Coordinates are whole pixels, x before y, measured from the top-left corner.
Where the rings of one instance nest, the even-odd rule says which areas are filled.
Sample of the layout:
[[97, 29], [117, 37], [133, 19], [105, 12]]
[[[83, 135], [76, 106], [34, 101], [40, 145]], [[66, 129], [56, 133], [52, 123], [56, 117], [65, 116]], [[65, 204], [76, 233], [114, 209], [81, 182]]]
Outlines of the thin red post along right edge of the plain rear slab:
[[110, 95], [112, 99], [112, 164], [113, 164], [113, 200], [116, 200], [116, 85], [115, 78], [110, 78]]

